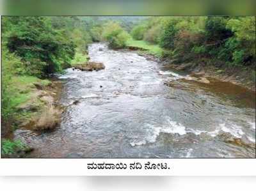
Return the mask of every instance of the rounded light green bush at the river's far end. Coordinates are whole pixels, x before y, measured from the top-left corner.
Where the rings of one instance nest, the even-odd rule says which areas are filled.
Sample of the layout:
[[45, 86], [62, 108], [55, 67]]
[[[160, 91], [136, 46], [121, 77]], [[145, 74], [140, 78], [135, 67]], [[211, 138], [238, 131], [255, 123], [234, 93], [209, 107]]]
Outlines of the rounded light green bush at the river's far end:
[[109, 47], [113, 49], [124, 48], [125, 42], [129, 39], [127, 32], [116, 22], [106, 24], [103, 37], [109, 42]]

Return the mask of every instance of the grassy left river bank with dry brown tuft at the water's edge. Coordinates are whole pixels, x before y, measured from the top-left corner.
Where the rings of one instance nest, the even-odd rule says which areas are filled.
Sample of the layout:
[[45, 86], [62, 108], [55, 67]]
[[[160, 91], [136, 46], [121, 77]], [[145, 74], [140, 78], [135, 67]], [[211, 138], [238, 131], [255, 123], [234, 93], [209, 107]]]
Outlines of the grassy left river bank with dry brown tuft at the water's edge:
[[24, 84], [21, 77], [17, 77], [19, 84], [12, 87], [19, 91], [19, 100], [22, 96], [28, 98], [17, 103], [14, 118], [2, 121], [2, 146], [3, 151], [6, 150], [2, 153], [2, 158], [22, 158], [33, 151], [34, 148], [27, 142], [15, 139], [16, 130], [28, 130], [40, 134], [54, 130], [61, 122], [61, 113], [64, 111], [64, 107], [59, 103], [61, 81], [56, 78], [40, 80], [33, 77], [28, 82], [28, 78], [26, 77]]

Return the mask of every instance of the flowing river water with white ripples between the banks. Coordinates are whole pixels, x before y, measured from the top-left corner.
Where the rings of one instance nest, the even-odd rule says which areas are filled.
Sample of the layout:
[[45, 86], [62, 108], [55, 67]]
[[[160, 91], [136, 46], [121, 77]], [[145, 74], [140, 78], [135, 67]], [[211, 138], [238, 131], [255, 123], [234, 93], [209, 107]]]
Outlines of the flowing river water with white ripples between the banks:
[[60, 102], [67, 105], [60, 128], [23, 136], [35, 147], [28, 157], [255, 157], [252, 91], [211, 78], [210, 83], [189, 80], [104, 43], [93, 43], [88, 51], [105, 70], [69, 68], [59, 77]]

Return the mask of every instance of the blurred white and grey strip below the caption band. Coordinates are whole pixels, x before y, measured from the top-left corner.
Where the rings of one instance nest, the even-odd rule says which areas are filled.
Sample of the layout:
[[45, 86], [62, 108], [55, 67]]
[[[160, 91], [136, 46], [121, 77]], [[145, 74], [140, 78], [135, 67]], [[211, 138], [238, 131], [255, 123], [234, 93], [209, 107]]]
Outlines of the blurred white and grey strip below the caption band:
[[4, 191], [250, 191], [255, 188], [255, 177], [0, 177], [0, 190]]

